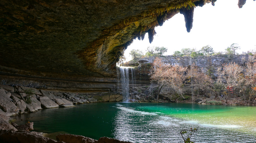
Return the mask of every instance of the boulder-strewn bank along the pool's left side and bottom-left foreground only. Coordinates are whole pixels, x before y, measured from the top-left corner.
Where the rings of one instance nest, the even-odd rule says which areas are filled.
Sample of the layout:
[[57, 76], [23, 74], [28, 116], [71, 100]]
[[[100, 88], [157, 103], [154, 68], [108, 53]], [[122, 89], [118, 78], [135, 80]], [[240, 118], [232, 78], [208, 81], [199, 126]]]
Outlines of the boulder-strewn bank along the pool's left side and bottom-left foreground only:
[[81, 135], [60, 134], [56, 140], [45, 133], [30, 132], [33, 122], [25, 125], [13, 123], [12, 116], [36, 112], [42, 108], [71, 107], [74, 104], [93, 102], [119, 102], [121, 95], [83, 95], [75, 93], [48, 92], [23, 86], [0, 85], [0, 142], [1, 143], [130, 143], [101, 137], [95, 140]]

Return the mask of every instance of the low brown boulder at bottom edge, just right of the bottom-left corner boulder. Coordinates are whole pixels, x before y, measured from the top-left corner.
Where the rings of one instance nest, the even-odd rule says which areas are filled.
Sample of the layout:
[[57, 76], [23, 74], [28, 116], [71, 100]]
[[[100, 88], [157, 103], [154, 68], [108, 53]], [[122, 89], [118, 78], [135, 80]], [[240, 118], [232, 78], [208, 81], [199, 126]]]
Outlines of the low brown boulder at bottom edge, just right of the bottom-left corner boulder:
[[65, 143], [97, 143], [97, 140], [82, 135], [59, 134], [56, 139]]

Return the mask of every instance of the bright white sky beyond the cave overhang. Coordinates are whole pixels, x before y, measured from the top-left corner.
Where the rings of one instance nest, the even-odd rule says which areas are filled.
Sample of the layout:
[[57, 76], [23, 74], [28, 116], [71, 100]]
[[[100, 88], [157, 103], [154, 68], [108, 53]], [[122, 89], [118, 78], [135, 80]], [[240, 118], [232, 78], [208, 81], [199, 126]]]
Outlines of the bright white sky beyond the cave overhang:
[[242, 51], [256, 48], [256, 1], [247, 0], [243, 8], [238, 8], [238, 0], [217, 0], [194, 10], [194, 21], [188, 33], [184, 16], [180, 13], [155, 28], [157, 34], [150, 44], [146, 33], [144, 40], [134, 40], [125, 50], [126, 61], [131, 60], [129, 53], [139, 49], [146, 53], [148, 46], [168, 48], [165, 55], [172, 55], [182, 48], [196, 48], [210, 45], [216, 52], [225, 51], [232, 43], [237, 43]]

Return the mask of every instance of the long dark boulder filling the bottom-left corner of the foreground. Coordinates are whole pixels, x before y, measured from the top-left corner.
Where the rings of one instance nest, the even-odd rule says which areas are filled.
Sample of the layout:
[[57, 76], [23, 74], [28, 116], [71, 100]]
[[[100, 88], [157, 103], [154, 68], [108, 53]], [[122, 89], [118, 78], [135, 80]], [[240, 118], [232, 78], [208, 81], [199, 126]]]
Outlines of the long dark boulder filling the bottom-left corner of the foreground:
[[64, 143], [28, 131], [0, 131], [0, 140], [4, 143]]

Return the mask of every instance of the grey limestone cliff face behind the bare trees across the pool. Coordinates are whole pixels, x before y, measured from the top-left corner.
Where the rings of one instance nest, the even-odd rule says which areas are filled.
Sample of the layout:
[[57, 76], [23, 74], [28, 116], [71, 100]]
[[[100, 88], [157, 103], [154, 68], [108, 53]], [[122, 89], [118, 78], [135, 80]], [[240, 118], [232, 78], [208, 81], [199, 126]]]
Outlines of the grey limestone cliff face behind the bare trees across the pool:
[[[245, 65], [249, 59], [253, 59], [253, 56], [250, 55], [215, 55], [215, 56], [166, 56], [160, 57], [164, 63], [171, 65], [181, 65], [181, 66], [191, 66], [195, 64], [203, 70], [204, 73], [207, 73], [212, 76], [212, 78], [217, 78], [218, 68], [222, 68], [225, 63], [237, 63], [239, 65]], [[155, 57], [146, 57], [139, 59], [139, 70], [146, 70], [149, 72], [150, 68], [145, 68], [152, 64], [155, 60]], [[145, 72], [145, 71], [143, 71]]]

